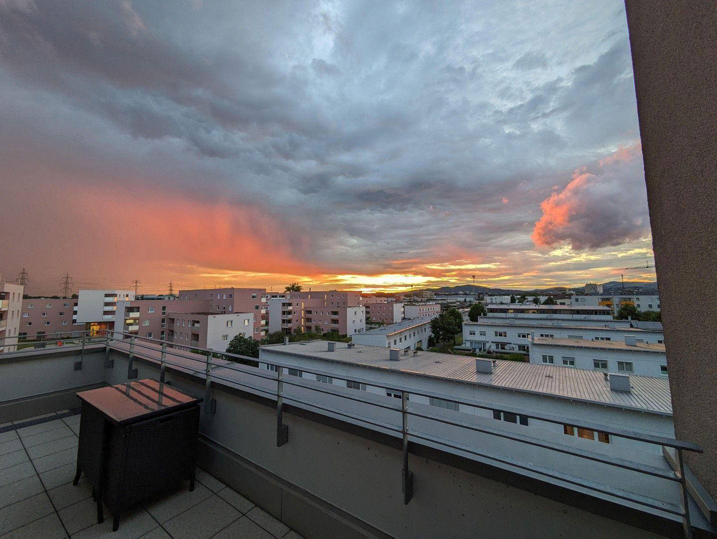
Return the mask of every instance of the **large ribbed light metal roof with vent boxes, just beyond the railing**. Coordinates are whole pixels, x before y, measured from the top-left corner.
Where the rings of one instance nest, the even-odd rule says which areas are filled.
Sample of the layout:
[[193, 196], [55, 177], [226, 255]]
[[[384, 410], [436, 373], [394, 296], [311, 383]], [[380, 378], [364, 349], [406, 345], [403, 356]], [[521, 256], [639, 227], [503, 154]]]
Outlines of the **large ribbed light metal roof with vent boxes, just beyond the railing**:
[[[349, 348], [346, 343], [337, 342], [334, 352], [328, 352], [327, 348], [323, 340], [262, 346], [262, 349], [287, 355], [672, 415], [670, 385], [663, 377], [630, 375], [632, 390], [622, 393], [611, 390], [604, 373], [597, 370], [495, 360], [493, 373], [483, 374], [475, 370], [475, 357], [467, 355], [420, 351], [417, 355], [402, 354], [401, 360], [391, 361], [386, 347], [353, 345]], [[380, 385], [379, 380], [376, 384]]]

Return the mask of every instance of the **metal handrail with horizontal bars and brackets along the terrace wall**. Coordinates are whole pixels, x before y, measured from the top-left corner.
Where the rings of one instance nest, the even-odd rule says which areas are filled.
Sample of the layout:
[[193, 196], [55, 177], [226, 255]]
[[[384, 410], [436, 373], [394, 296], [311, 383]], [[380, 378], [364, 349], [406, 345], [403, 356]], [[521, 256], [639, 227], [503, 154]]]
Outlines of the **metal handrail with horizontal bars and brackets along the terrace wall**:
[[[473, 425], [471, 423], [467, 423], [465, 421], [458, 421], [456, 419], [447, 418], [444, 416], [435, 416], [435, 415], [429, 415], [427, 413], [421, 413], [417, 410], [411, 410], [407, 406], [407, 395], [420, 395], [422, 397], [426, 398], [437, 398], [441, 400], [447, 400], [450, 403], [460, 404], [463, 406], [470, 406], [472, 408], [480, 408], [483, 410], [495, 410], [494, 406], [488, 406], [486, 404], [481, 404], [476, 401], [470, 402], [467, 400], [463, 400], [460, 398], [456, 398], [452, 395], [445, 395], [442, 393], [426, 393], [421, 390], [416, 390], [415, 388], [411, 388], [409, 386], [397, 386], [397, 387], [389, 387], [387, 385], [381, 384], [377, 385], [374, 380], [364, 380], [361, 378], [356, 377], [345, 377], [344, 375], [335, 375], [330, 371], [325, 370], [308, 370], [305, 367], [299, 367], [298, 365], [290, 365], [288, 363], [279, 363], [275, 360], [267, 361], [267, 360], [261, 360], [262, 363], [265, 363], [267, 366], [274, 367], [272, 370], [269, 370], [268, 372], [272, 372], [275, 370], [276, 375], [270, 375], [265, 374], [263, 370], [257, 369], [257, 367], [253, 367], [252, 365], [242, 365], [242, 363], [237, 363], [232, 360], [240, 360], [242, 362], [260, 362], [258, 358], [255, 357], [247, 357], [242, 355], [233, 354], [231, 352], [218, 352], [217, 350], [212, 349], [206, 349], [206, 348], [200, 348], [196, 347], [194, 345], [190, 345], [189, 348], [191, 350], [196, 350], [198, 352], [205, 352], [206, 355], [202, 354], [196, 354], [191, 352], [184, 352], [184, 350], [175, 350], [174, 347], [181, 347], [181, 348], [187, 348], [188, 346], [182, 344], [182, 343], [176, 343], [176, 342], [168, 342], [166, 340], [161, 339], [154, 339], [152, 337], [141, 337], [139, 335], [128, 333], [128, 332], [122, 332], [114, 329], [103, 329], [103, 330], [75, 330], [70, 332], [56, 332], [54, 335], [62, 334], [62, 335], [77, 335], [77, 337], [56, 337], [54, 339], [50, 338], [47, 339], [48, 335], [35, 335], [35, 337], [42, 337], [42, 339], [32, 340], [28, 341], [27, 336], [24, 340], [19, 340], [19, 337], [0, 337], [0, 342], [2, 340], [6, 339], [18, 339], [18, 342], [13, 343], [15, 344], [30, 344], [33, 342], [42, 342], [42, 343], [48, 343], [48, 342], [59, 342], [62, 340], [68, 340], [68, 339], [82, 339], [82, 350], [84, 352], [84, 348], [86, 344], [92, 344], [92, 343], [105, 343], [105, 347], [109, 349], [110, 344], [112, 342], [119, 342], [119, 343], [129, 343], [130, 345], [130, 356], [135, 357], [143, 357], [147, 360], [151, 361], [157, 361], [161, 363], [161, 378], [163, 380], [164, 378], [164, 372], [166, 369], [166, 366], [176, 367], [177, 369], [181, 370], [188, 370], [189, 372], [192, 372], [196, 375], [204, 375], [206, 377], [206, 392], [207, 392], [207, 398], [205, 398], [205, 406], [211, 407], [212, 399], [210, 395], [211, 391], [211, 381], [212, 380], [219, 380], [222, 382], [225, 382], [227, 384], [232, 385], [238, 385], [239, 387], [247, 388], [252, 391], [258, 391], [260, 393], [264, 393], [265, 395], [268, 395], [270, 398], [275, 398], [277, 400], [277, 419], [278, 419], [278, 431], [277, 431], [277, 445], [285, 444], [286, 441], [288, 441], [288, 428], [286, 428], [285, 425], [282, 425], [281, 416], [282, 416], [282, 402], [284, 400], [290, 401], [293, 403], [298, 403], [303, 406], [309, 406], [311, 408], [318, 409], [320, 411], [324, 411], [326, 413], [330, 413], [336, 416], [341, 416], [345, 418], [349, 418], [353, 421], [359, 421], [361, 423], [366, 423], [367, 425], [374, 426], [376, 428], [382, 428], [387, 431], [390, 431], [392, 433], [397, 433], [401, 435], [404, 439], [404, 502], [408, 503], [412, 497], [412, 472], [409, 472], [408, 470], [408, 460], [407, 460], [407, 451], [408, 451], [408, 444], [407, 442], [409, 439], [417, 439], [417, 440], [424, 440], [429, 441], [433, 444], [438, 444], [441, 446], [449, 447], [451, 449], [455, 449], [457, 451], [464, 451], [468, 454], [473, 454], [475, 456], [479, 456], [481, 458], [490, 459], [493, 461], [498, 461], [502, 464], [506, 464], [511, 467], [516, 467], [518, 469], [525, 469], [527, 471], [541, 474], [545, 477], [550, 477], [551, 479], [556, 479], [561, 482], [566, 482], [568, 484], [574, 484], [579, 487], [584, 487], [586, 489], [592, 490], [594, 492], [599, 492], [604, 495], [609, 495], [611, 497], [616, 497], [619, 499], [627, 500], [630, 502], [634, 502], [637, 505], [642, 505], [645, 507], [650, 507], [652, 509], [662, 510], [665, 512], [668, 512], [673, 515], [678, 515], [683, 520], [683, 532], [685, 537], [691, 537], [691, 526], [689, 523], [689, 509], [687, 505], [687, 485], [685, 481], [685, 473], [684, 473], [684, 467], [683, 467], [683, 455], [682, 451], [693, 451], [701, 453], [703, 452], [701, 447], [698, 446], [698, 444], [694, 444], [693, 442], [689, 441], [680, 441], [677, 439], [671, 439], [665, 436], [654, 436], [650, 434], [642, 434], [642, 433], [635, 433], [633, 431], [628, 431], [626, 429], [622, 428], [613, 428], [610, 426], [604, 426], [602, 424], [598, 423], [590, 423], [586, 421], [581, 420], [575, 420], [573, 421], [572, 418], [564, 418], [559, 416], [554, 416], [551, 414], [543, 414], [543, 415], [537, 415], [536, 413], [525, 413], [524, 411], [518, 411], [516, 409], [511, 410], [511, 407], [505, 407], [500, 406], [500, 411], [508, 411], [511, 413], [520, 414], [522, 416], [526, 416], [528, 418], [533, 418], [538, 421], [546, 421], [548, 423], [558, 423], [561, 425], [566, 424], [566, 422], [571, 423], [571, 425], [576, 426], [576, 428], [586, 428], [592, 431], [600, 431], [604, 433], [608, 433], [611, 436], [617, 436], [619, 438], [625, 438], [625, 439], [631, 439], [635, 441], [641, 441], [646, 444], [653, 444], [657, 446], [667, 446], [670, 448], [675, 449], [677, 451], [678, 456], [678, 470], [676, 472], [663, 472], [657, 467], [653, 467], [647, 464], [639, 464], [639, 463], [632, 463], [630, 461], [626, 461], [625, 459], [619, 459], [615, 457], [611, 457], [610, 459], [604, 458], [600, 454], [597, 454], [593, 451], [585, 451], [578, 448], [573, 448], [571, 446], [566, 446], [564, 444], [550, 444], [546, 441], [535, 439], [531, 436], [519, 436], [515, 433], [512, 433], [511, 431], [503, 431], [501, 429], [494, 429], [494, 428], [487, 428], [483, 426]], [[52, 335], [52, 334], [50, 334]], [[118, 337], [121, 336], [121, 337]], [[89, 339], [88, 339], [89, 337]], [[128, 339], [125, 339], [124, 337], [129, 337]], [[137, 342], [137, 341], [140, 342]], [[153, 345], [159, 345], [153, 346]], [[171, 346], [172, 348], [168, 348], [168, 346]], [[141, 350], [151, 350], [152, 352], [161, 352], [161, 357], [153, 357], [149, 353], [141, 352], [141, 354], [138, 354], [136, 349]], [[120, 349], [121, 350], [121, 349]], [[124, 350], [123, 350], [124, 351]], [[278, 351], [282, 352], [282, 350], [276, 350], [272, 349], [272, 351]], [[14, 352], [7, 352], [6, 354], [0, 355], [0, 358], [3, 356], [6, 356], [8, 353], [14, 353]], [[16, 353], [16, 352], [15, 352]], [[213, 355], [217, 354], [220, 357], [215, 358]], [[181, 364], [178, 362], [172, 362], [167, 359], [167, 356], [170, 357], [176, 357], [181, 358], [185, 360], [191, 360], [195, 362], [199, 362], [199, 365], [197, 368], [191, 367], [189, 365]], [[202, 365], [203, 364], [203, 365]], [[266, 388], [262, 388], [257, 385], [252, 385], [250, 383], [244, 383], [241, 380], [234, 380], [232, 378], [226, 378], [222, 376], [221, 374], [217, 373], [217, 369], [225, 369], [230, 371], [236, 371], [240, 372], [244, 375], [250, 375], [255, 378], [260, 378], [263, 380], [267, 380], [271, 383], [276, 383], [277, 390], [267, 390]], [[402, 395], [402, 402], [401, 406], [388, 406], [386, 404], [377, 403], [374, 400], [369, 400], [367, 398], [361, 398], [358, 395], [347, 395], [341, 392], [338, 392], [337, 390], [331, 390], [331, 385], [327, 385], [326, 388], [323, 388], [323, 384], [320, 382], [317, 382], [316, 385], [314, 384], [306, 384], [306, 383], [299, 383], [298, 380], [300, 378], [288, 376], [283, 376], [285, 370], [292, 369], [292, 370], [300, 370], [301, 372], [306, 372], [311, 375], [321, 375], [321, 376], [331, 376], [332, 378], [335, 378], [337, 380], [345, 380], [345, 381], [353, 381], [358, 383], [364, 383], [366, 385], [372, 385], [374, 387], [380, 387], [384, 390], [389, 390], [394, 393], [400, 393]], [[310, 381], [310, 380], [309, 380]], [[382, 408], [389, 411], [395, 411], [402, 414], [402, 427], [398, 428], [397, 426], [392, 426], [388, 423], [383, 423], [380, 421], [375, 421], [371, 418], [367, 418], [365, 416], [360, 416], [356, 413], [346, 413], [344, 411], [338, 411], [334, 408], [328, 408], [326, 406], [322, 406], [320, 403], [316, 403], [313, 400], [306, 400], [302, 398], [298, 398], [295, 395], [285, 395], [282, 387], [283, 385], [292, 385], [298, 388], [303, 388], [306, 390], [312, 390], [317, 393], [323, 393], [326, 395], [332, 395], [338, 398], [346, 399], [346, 400], [352, 400], [354, 402], [363, 403], [369, 406], [374, 406], [376, 408]], [[206, 413], [211, 413], [209, 411], [209, 408], [205, 408]], [[609, 487], [601, 488], [597, 486], [596, 484], [589, 484], [589, 482], [579, 482], [575, 479], [571, 479], [570, 476], [567, 476], [566, 474], [559, 474], [556, 472], [549, 472], [543, 469], [536, 468], [535, 466], [527, 466], [526, 464], [521, 464], [518, 461], [513, 461], [512, 459], [495, 456], [493, 454], [487, 453], [485, 451], [477, 451], [474, 448], [463, 446], [462, 444], [458, 442], [451, 442], [444, 439], [438, 439], [432, 436], [428, 436], [425, 433], [419, 433], [418, 431], [410, 431], [408, 428], [408, 422], [407, 419], [409, 417], [416, 417], [416, 418], [424, 418], [429, 421], [437, 421], [439, 423], [444, 423], [450, 426], [455, 426], [459, 428], [465, 428], [470, 431], [474, 432], [480, 432], [484, 434], [488, 434], [489, 436], [497, 436], [499, 438], [503, 439], [509, 439], [511, 441], [516, 441], [518, 443], [522, 444], [528, 444], [530, 446], [536, 446], [540, 447], [541, 449], [547, 449], [550, 451], [557, 451], [560, 454], [569, 454], [571, 456], [576, 456], [583, 459], [588, 459], [591, 461], [597, 461], [601, 464], [607, 464], [612, 467], [617, 467], [621, 469], [627, 469], [632, 472], [638, 472], [640, 474], [647, 474], [652, 477], [657, 477], [659, 479], [665, 479], [671, 482], [679, 482], [680, 487], [682, 490], [682, 500], [680, 503], [680, 509], [675, 510], [668, 505], [668, 502], [660, 502], [660, 500], [653, 500], [651, 498], [642, 497], [640, 495], [635, 495], [635, 497], [630, 497], [624, 494], [624, 492], [618, 489], [611, 489]], [[286, 429], [283, 431], [284, 438], [280, 442], [280, 434], [279, 432], [282, 431], [282, 428]], [[634, 494], [634, 493], [633, 493]], [[677, 505], [675, 505], [677, 507]]]

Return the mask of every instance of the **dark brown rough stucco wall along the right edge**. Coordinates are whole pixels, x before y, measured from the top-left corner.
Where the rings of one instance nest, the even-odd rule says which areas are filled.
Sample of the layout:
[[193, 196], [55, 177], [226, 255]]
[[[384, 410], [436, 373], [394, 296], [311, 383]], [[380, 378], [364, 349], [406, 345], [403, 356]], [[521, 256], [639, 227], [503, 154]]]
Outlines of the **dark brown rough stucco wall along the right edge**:
[[[717, 8], [627, 0], [637, 113], [678, 438], [717, 495]], [[686, 301], [686, 299], [697, 301]]]

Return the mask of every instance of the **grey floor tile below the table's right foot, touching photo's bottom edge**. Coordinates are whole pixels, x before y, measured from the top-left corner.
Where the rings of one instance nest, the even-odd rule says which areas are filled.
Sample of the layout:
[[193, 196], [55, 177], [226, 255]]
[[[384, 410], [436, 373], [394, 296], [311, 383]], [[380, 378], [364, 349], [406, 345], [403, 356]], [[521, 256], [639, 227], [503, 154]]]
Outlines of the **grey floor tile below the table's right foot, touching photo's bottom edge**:
[[163, 528], [174, 539], [206, 539], [241, 516], [234, 507], [214, 495], [165, 522]]

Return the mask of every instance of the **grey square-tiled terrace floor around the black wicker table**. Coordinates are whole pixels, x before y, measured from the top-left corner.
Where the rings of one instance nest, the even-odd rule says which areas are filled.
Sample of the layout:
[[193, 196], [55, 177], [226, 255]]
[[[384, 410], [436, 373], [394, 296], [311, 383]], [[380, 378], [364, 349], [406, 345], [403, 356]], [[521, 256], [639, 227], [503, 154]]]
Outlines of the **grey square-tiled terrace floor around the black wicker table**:
[[0, 425], [0, 538], [300, 538], [225, 484], [197, 470], [176, 492], [97, 523], [92, 488], [72, 485], [80, 416], [62, 411]]

